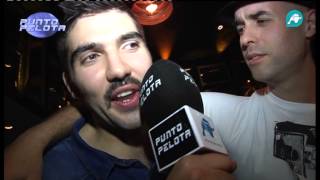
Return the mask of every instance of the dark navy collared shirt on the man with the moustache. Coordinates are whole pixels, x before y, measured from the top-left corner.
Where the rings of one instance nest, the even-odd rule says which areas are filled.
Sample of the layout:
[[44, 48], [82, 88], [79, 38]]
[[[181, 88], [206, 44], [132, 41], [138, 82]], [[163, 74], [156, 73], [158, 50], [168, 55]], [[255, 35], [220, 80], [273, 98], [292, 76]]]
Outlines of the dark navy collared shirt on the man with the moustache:
[[44, 155], [44, 180], [144, 180], [149, 179], [148, 168], [140, 161], [116, 158], [90, 147], [79, 131], [85, 119], [79, 119], [70, 136], [50, 148]]

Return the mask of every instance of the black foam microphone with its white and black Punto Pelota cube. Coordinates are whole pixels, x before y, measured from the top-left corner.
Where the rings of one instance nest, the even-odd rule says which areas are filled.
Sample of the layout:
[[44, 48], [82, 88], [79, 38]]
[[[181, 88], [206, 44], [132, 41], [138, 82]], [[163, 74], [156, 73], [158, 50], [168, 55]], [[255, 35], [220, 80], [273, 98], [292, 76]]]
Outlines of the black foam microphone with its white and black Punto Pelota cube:
[[139, 104], [159, 172], [195, 152], [227, 154], [212, 120], [203, 114], [195, 81], [174, 62], [159, 60], [150, 67]]

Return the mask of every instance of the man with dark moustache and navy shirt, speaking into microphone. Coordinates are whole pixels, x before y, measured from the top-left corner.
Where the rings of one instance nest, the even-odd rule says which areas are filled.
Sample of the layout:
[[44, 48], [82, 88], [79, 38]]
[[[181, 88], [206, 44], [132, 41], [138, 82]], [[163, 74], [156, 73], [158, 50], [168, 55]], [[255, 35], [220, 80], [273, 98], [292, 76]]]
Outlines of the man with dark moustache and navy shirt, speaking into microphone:
[[121, 3], [60, 6], [63, 80], [89, 113], [45, 154], [43, 179], [147, 179], [138, 104], [152, 60], [141, 27]]

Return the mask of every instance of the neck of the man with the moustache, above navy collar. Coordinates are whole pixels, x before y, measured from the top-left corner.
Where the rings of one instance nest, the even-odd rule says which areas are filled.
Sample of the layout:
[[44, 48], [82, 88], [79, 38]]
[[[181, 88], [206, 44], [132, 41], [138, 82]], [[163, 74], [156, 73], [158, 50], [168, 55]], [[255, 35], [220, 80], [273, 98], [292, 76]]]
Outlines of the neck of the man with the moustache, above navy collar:
[[149, 160], [142, 145], [128, 144], [103, 128], [86, 123], [79, 132], [80, 137], [91, 147], [111, 154], [119, 159], [137, 159], [149, 167]]

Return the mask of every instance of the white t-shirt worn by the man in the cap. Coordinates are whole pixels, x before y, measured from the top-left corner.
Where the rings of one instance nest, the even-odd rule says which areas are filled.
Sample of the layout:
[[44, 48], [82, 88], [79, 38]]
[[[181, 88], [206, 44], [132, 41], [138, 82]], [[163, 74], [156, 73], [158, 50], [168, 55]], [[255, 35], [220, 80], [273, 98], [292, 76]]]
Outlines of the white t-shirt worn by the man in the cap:
[[201, 93], [240, 180], [315, 180], [315, 104], [253, 93]]

